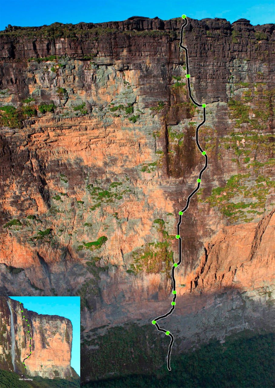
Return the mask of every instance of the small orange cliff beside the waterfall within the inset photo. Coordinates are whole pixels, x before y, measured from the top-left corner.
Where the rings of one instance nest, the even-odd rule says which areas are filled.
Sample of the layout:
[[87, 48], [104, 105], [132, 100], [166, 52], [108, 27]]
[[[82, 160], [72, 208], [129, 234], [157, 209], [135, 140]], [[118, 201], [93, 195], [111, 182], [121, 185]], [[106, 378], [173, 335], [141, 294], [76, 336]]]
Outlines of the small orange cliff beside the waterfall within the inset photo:
[[[9, 302], [9, 304], [7, 303]], [[11, 317], [10, 308], [13, 317]], [[29, 326], [22, 318], [28, 319]], [[75, 375], [71, 368], [71, 348], [73, 327], [67, 318], [57, 315], [41, 315], [28, 311], [24, 305], [16, 300], [2, 296], [0, 299], [1, 313], [1, 368], [29, 376], [54, 378], [68, 378]], [[14, 324], [14, 353], [12, 360], [12, 319]], [[29, 334], [31, 334], [31, 348], [29, 348]], [[31, 355], [30, 354], [31, 349]], [[23, 360], [25, 358], [23, 364]]]

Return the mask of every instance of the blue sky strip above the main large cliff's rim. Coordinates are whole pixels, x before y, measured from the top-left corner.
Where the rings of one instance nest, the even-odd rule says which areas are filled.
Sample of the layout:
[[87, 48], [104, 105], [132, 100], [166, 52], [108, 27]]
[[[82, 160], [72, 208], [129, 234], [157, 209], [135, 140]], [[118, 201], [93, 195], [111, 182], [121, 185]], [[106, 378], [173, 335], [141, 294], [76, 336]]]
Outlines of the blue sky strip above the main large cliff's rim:
[[0, 30], [5, 26], [42, 26], [60, 23], [100, 23], [130, 16], [161, 19], [186, 14], [193, 19], [241, 17], [251, 24], [274, 23], [275, 0], [0, 0]]

